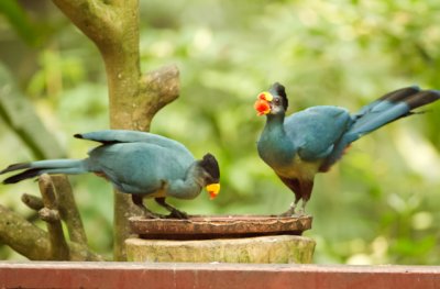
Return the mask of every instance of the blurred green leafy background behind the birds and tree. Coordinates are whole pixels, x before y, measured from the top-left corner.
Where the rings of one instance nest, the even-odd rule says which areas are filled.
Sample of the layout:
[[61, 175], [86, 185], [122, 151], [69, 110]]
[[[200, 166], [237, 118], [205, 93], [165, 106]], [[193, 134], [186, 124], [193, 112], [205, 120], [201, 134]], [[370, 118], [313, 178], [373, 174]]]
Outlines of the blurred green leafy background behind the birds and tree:
[[[440, 88], [437, 0], [140, 2], [144, 71], [174, 63], [182, 73], [180, 98], [156, 115], [152, 132], [221, 162], [219, 198], [172, 201], [189, 213], [272, 214], [293, 200], [255, 151], [264, 119], [253, 101], [272, 82], [286, 86], [289, 112], [317, 104], [354, 112], [399, 87]], [[50, 1], [2, 1], [0, 10], [0, 66], [12, 78], [0, 85], [15, 86], [0, 107], [21, 96], [65, 155], [84, 157], [94, 144], [72, 135], [109, 125], [97, 48]], [[317, 176], [306, 233], [318, 244], [315, 263], [439, 264], [440, 103], [426, 110], [358, 141]], [[18, 135], [0, 122], [2, 167], [40, 156]], [[88, 175], [70, 180], [91, 247], [110, 256], [110, 186]], [[20, 192], [36, 187], [0, 186], [0, 203], [35, 220]], [[2, 246], [0, 258], [23, 257]]]

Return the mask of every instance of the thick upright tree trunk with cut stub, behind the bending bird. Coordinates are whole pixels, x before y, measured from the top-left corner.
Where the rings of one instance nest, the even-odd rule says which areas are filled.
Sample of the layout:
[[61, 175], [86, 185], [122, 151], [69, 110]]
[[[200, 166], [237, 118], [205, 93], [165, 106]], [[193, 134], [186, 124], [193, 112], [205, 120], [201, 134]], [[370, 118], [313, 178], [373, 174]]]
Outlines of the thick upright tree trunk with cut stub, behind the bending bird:
[[[99, 48], [109, 86], [110, 127], [148, 131], [154, 114], [178, 97], [178, 70], [142, 76], [138, 0], [53, 0]], [[128, 219], [141, 211], [130, 196], [114, 192], [114, 259], [125, 260]]]

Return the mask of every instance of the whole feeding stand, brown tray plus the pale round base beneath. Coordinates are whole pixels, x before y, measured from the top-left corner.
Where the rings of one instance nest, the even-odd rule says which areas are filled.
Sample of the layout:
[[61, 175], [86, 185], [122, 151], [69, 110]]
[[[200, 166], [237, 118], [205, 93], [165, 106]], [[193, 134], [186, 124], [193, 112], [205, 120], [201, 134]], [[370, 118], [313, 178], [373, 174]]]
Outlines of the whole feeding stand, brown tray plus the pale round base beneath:
[[131, 218], [139, 237], [125, 241], [127, 255], [133, 262], [306, 264], [316, 243], [301, 234], [311, 221], [309, 215]]

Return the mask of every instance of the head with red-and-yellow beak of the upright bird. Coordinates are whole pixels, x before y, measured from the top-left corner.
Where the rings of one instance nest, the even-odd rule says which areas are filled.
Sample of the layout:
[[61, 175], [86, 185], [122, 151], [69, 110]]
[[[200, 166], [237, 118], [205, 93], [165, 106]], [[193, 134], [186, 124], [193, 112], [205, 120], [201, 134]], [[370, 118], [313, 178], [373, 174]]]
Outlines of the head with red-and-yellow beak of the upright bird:
[[287, 111], [288, 100], [283, 85], [275, 82], [268, 89], [258, 95], [254, 108], [258, 115], [279, 114]]

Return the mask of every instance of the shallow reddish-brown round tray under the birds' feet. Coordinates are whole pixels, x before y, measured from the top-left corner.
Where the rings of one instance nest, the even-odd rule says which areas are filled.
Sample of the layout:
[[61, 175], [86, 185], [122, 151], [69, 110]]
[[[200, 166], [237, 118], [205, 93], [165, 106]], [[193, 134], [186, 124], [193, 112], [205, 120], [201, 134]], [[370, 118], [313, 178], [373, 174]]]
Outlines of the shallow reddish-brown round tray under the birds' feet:
[[191, 215], [188, 220], [130, 219], [132, 232], [148, 240], [207, 240], [266, 235], [301, 235], [310, 215]]

